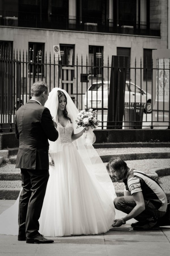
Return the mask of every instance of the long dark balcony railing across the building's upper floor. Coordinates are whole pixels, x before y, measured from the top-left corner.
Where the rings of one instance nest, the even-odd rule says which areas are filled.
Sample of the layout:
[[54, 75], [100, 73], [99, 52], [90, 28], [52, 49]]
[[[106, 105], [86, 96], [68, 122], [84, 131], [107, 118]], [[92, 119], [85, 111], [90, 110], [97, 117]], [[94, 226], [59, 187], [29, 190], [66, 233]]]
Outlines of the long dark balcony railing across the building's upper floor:
[[0, 11], [1, 26], [160, 36], [160, 23]]

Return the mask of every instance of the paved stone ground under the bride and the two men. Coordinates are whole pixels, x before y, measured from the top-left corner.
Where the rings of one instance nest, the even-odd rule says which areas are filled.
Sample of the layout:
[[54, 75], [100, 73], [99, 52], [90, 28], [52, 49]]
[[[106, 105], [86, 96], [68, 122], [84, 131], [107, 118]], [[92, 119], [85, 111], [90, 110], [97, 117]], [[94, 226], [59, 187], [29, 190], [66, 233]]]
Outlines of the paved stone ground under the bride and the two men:
[[[14, 200], [0, 200], [0, 213]], [[117, 212], [116, 217], [126, 214]], [[0, 235], [0, 256], [169, 256], [170, 226], [157, 231], [133, 231], [126, 225], [105, 234], [54, 238], [53, 244], [26, 244], [17, 236]]]

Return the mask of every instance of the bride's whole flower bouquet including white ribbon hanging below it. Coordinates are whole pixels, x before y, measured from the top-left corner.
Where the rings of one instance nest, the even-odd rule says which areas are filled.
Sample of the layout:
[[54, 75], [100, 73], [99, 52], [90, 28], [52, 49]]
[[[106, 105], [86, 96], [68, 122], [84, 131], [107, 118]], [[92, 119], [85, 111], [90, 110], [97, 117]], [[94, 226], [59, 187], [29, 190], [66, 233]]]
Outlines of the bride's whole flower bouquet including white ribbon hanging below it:
[[97, 110], [93, 111], [92, 108], [89, 108], [87, 111], [80, 111], [80, 113], [78, 113], [76, 123], [77, 128], [79, 126], [89, 127], [88, 131], [83, 133], [82, 139], [84, 140], [84, 144], [91, 146], [95, 142], [95, 134], [93, 133], [93, 130], [99, 125], [99, 120], [97, 119]]

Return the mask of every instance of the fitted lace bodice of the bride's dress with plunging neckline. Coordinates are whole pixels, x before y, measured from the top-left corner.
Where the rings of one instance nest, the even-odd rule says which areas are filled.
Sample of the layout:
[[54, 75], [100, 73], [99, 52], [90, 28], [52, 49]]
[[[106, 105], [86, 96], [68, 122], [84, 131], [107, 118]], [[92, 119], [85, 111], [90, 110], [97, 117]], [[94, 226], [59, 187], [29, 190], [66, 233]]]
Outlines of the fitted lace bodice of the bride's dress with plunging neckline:
[[59, 133], [60, 133], [60, 140], [61, 144], [70, 144], [71, 141], [71, 135], [73, 132], [73, 124], [68, 120], [65, 127], [63, 127], [60, 123], [59, 125]]

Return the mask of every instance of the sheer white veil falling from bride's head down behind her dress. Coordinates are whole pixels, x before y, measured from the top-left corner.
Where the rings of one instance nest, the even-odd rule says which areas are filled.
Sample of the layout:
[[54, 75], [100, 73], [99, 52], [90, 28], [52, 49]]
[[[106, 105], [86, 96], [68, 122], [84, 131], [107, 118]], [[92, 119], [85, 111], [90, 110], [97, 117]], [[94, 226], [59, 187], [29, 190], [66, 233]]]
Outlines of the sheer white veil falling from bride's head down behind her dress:
[[[76, 108], [73, 100], [65, 90], [57, 87], [53, 88], [52, 91], [49, 93], [48, 100], [45, 103], [45, 107], [50, 110], [52, 117], [54, 117], [54, 121], [58, 123], [58, 115], [57, 115], [58, 91], [64, 92], [67, 98], [66, 108], [67, 108], [68, 116], [71, 118], [71, 121], [73, 123], [74, 133], [75, 134], [79, 133], [80, 131], [83, 130], [83, 127], [77, 128], [76, 119], [79, 111]], [[59, 126], [57, 130], [59, 133]], [[115, 198], [116, 193], [115, 193], [111, 178], [107, 173], [105, 164], [102, 162], [100, 156], [97, 154], [93, 145], [89, 143], [85, 144], [85, 141], [82, 136], [79, 139], [73, 141], [73, 143], [75, 144], [88, 170], [94, 173], [98, 181], [101, 182], [101, 184], [105, 187], [105, 190], [111, 195], [112, 198]], [[61, 148], [60, 134], [57, 141], [55, 142], [49, 141], [49, 144], [50, 144], [49, 152], [57, 153], [58, 151], [61, 151], [62, 148]]]

